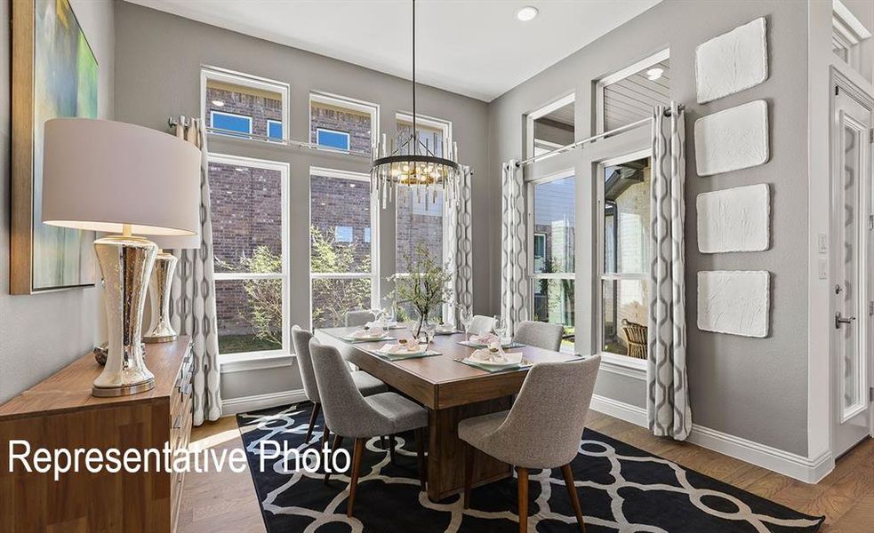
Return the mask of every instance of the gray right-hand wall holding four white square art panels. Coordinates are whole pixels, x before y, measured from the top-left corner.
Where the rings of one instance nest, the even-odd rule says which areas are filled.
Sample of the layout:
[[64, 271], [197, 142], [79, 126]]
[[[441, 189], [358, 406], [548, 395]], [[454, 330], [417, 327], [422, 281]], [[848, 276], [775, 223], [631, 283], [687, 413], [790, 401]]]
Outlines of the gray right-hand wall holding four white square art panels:
[[[805, 455], [807, 353], [807, 225], [806, 180], [806, 3], [803, 2], [681, 2], [664, 0], [609, 35], [573, 53], [492, 102], [489, 109], [491, 187], [500, 188], [500, 165], [523, 153], [525, 113], [570, 92], [576, 92], [576, 137], [593, 133], [593, 81], [670, 46], [671, 98], [686, 104], [686, 321], [688, 370], [694, 422], [701, 426]], [[767, 17], [771, 68], [765, 84], [706, 105], [695, 103], [694, 48], [760, 16]], [[771, 160], [765, 165], [718, 176], [695, 174], [694, 121], [727, 107], [766, 99], [770, 106]], [[575, 166], [581, 197], [590, 198], [586, 150], [556, 157], [549, 166]], [[549, 169], [532, 169], [530, 174]], [[758, 253], [703, 255], [697, 251], [695, 197], [706, 191], [754, 183], [769, 183], [773, 193], [772, 247]], [[588, 187], [588, 188], [587, 188]], [[589, 192], [587, 192], [589, 191]], [[589, 196], [586, 196], [589, 194]], [[589, 206], [581, 206], [588, 209]], [[493, 196], [493, 212], [500, 197]], [[500, 216], [500, 215], [499, 215]], [[591, 235], [578, 218], [576, 316], [590, 317]], [[497, 226], [493, 242], [500, 242]], [[492, 249], [493, 263], [500, 247]], [[710, 269], [769, 270], [773, 273], [771, 334], [766, 339], [742, 338], [699, 331], [695, 324], [696, 274]], [[493, 278], [497, 305], [500, 280]], [[586, 292], [589, 298], [586, 298]], [[579, 327], [578, 323], [578, 327]], [[581, 352], [591, 347], [578, 346]], [[619, 379], [625, 379], [620, 382]], [[636, 394], [628, 387], [637, 386]], [[643, 407], [643, 381], [602, 371], [597, 394]]]

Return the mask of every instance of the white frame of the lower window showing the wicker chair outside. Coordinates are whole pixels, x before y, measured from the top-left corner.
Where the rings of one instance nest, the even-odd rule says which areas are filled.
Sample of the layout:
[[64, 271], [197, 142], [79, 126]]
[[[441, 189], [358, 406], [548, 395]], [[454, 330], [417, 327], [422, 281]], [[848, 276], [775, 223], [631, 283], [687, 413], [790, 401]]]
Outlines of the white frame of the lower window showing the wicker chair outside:
[[647, 273], [636, 273], [636, 274], [621, 274], [621, 273], [607, 273], [604, 268], [604, 254], [605, 254], [605, 240], [604, 240], [604, 211], [605, 211], [605, 191], [604, 191], [604, 171], [605, 168], [621, 164], [621, 163], [629, 163], [631, 161], [637, 161], [638, 159], [650, 158], [652, 160], [653, 150], [651, 148], [645, 148], [641, 150], [637, 150], [636, 152], [631, 152], [629, 154], [620, 155], [617, 157], [612, 157], [609, 159], [604, 159], [602, 161], [598, 161], [596, 165], [596, 173], [595, 173], [595, 182], [596, 182], [596, 190], [595, 190], [595, 199], [596, 199], [596, 212], [595, 217], [597, 223], [595, 224], [596, 231], [596, 239], [597, 243], [597, 259], [596, 264], [597, 267], [595, 269], [595, 292], [593, 298], [593, 310], [595, 316], [595, 335], [596, 346], [597, 346], [597, 354], [601, 355], [602, 361], [612, 363], [616, 366], [624, 366], [637, 370], [646, 370], [646, 360], [645, 359], [635, 359], [633, 357], [629, 357], [625, 354], [613, 354], [613, 352], [606, 352], [604, 349], [604, 282], [605, 281], [640, 281], [645, 283], [647, 286], [649, 284], [649, 274]]

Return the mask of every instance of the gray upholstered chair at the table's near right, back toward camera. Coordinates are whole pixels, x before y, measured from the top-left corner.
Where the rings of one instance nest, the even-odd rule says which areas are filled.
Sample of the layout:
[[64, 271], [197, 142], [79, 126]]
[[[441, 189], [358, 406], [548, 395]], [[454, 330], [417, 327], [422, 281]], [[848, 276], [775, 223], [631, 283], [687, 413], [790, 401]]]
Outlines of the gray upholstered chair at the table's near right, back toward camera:
[[580, 530], [582, 510], [573, 484], [571, 460], [580, 449], [589, 402], [601, 356], [573, 362], [541, 362], [528, 375], [509, 411], [461, 420], [459, 438], [467, 442], [464, 459], [464, 507], [470, 505], [474, 449], [516, 465], [519, 478], [519, 531], [528, 518], [528, 469], [561, 467]]

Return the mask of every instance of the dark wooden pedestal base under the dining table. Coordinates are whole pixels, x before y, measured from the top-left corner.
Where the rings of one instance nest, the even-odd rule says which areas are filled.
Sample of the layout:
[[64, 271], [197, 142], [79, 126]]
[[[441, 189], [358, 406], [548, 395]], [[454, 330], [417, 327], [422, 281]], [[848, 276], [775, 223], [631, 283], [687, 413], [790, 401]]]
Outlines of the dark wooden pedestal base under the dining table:
[[[458, 438], [458, 423], [464, 418], [509, 410], [512, 403], [512, 397], [507, 396], [486, 402], [429, 410], [428, 497], [431, 501], [458, 494], [464, 489], [465, 444]], [[474, 458], [474, 487], [513, 474], [510, 465], [479, 450]]]

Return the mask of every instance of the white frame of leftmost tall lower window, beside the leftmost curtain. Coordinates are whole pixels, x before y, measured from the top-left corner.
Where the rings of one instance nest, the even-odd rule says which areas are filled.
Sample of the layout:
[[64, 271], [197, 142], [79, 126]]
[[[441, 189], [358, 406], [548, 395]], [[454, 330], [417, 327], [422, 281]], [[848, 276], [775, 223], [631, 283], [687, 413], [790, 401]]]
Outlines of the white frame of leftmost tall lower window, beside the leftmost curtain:
[[291, 316], [290, 316], [290, 267], [289, 267], [289, 242], [287, 217], [289, 213], [288, 185], [290, 168], [288, 163], [244, 157], [240, 155], [210, 154], [209, 163], [236, 165], [246, 168], [258, 168], [269, 171], [278, 171], [280, 174], [280, 239], [282, 240], [282, 271], [270, 274], [255, 274], [243, 272], [217, 272], [214, 274], [216, 282], [221, 281], [247, 281], [247, 280], [281, 280], [282, 281], [282, 347], [277, 350], [261, 350], [255, 352], [240, 352], [236, 354], [219, 354], [219, 362], [245, 362], [265, 357], [285, 357], [292, 354], [291, 346]]

